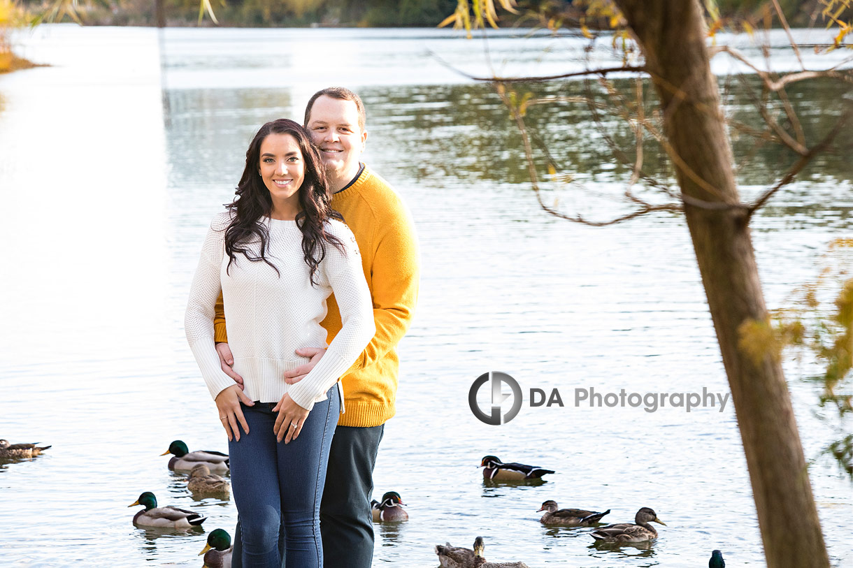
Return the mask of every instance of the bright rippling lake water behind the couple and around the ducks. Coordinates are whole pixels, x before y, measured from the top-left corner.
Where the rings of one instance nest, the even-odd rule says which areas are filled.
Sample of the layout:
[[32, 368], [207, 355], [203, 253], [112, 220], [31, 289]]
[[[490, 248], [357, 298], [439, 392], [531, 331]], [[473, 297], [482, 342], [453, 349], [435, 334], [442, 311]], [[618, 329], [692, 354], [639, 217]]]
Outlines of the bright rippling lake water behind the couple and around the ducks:
[[[796, 68], [784, 38], [770, 39], [775, 71]], [[431, 29], [159, 36], [63, 25], [17, 41], [22, 55], [52, 67], [0, 76], [0, 437], [53, 448], [0, 465], [0, 564], [200, 565], [204, 533], [131, 525], [127, 505], [145, 490], [204, 513], [207, 531], [233, 532], [234, 505], [194, 501], [159, 456], [177, 438], [226, 449], [183, 337], [189, 281], [258, 125], [300, 119], [311, 93], [345, 84], [367, 106], [365, 161], [403, 195], [421, 241], [420, 304], [400, 345], [397, 416], [374, 475], [376, 493], [397, 490], [410, 520], [376, 525], [374, 565], [434, 566], [434, 544], [470, 546], [478, 535], [486, 558], [531, 568], [704, 566], [714, 548], [728, 565], [764, 565], [731, 403], [647, 413], [576, 408], [571, 398], [576, 388], [728, 392], [683, 217], [596, 229], [543, 213], [507, 111], [488, 86], [453, 69], [488, 73], [482, 40]], [[758, 55], [744, 38], [732, 41]], [[583, 65], [577, 38], [500, 32], [486, 46], [505, 74]], [[820, 60], [804, 50], [809, 66], [844, 55]], [[601, 49], [593, 59], [612, 55]], [[715, 68], [738, 70], [719, 58]], [[750, 86], [747, 78], [732, 89]], [[791, 93], [816, 140], [844, 90], [820, 83]], [[730, 101], [730, 113], [757, 124], [742, 99]], [[595, 218], [624, 211], [612, 196], [626, 169], [583, 107], [531, 110], [530, 120], [583, 183], [560, 191], [561, 206]], [[793, 162], [752, 147], [735, 142], [739, 155], [751, 154], [740, 171], [745, 194]], [[821, 157], [753, 220], [771, 308], [815, 280], [830, 241], [850, 236], [851, 178], [849, 157]], [[513, 375], [525, 392], [519, 416], [503, 426], [479, 422], [467, 405], [473, 380], [490, 370]], [[817, 416], [817, 387], [804, 380], [818, 373], [808, 360], [786, 364], [833, 565], [851, 566], [850, 482], [816, 459], [840, 438]], [[566, 406], [530, 408], [532, 387], [560, 388]], [[476, 467], [486, 454], [556, 473], [543, 484], [486, 485]], [[592, 548], [589, 530], [539, 524], [548, 499], [610, 508], [608, 522], [653, 507], [667, 526], [651, 548]]]

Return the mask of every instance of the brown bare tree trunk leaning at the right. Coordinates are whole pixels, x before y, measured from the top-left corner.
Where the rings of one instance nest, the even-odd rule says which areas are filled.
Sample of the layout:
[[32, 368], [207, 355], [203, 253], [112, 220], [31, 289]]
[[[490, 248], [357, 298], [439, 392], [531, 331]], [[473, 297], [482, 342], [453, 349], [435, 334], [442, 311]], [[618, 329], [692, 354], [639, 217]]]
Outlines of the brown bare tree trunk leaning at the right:
[[[696, 0], [616, 0], [641, 45], [664, 112], [664, 128], [685, 195], [722, 362], [743, 438], [769, 568], [826, 568], [827, 549], [780, 363], [757, 363], [738, 347], [738, 328], [764, 321], [749, 219], [737, 204], [732, 152]], [[691, 201], [690, 198], [695, 200]], [[693, 203], [693, 205], [691, 205]]]

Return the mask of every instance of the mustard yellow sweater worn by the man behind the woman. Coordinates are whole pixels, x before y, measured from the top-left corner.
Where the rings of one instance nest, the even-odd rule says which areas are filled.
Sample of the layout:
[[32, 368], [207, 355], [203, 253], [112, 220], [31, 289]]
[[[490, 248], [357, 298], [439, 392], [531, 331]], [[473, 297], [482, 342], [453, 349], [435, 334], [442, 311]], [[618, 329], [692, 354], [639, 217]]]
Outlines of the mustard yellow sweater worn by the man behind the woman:
[[[332, 206], [344, 216], [356, 236], [376, 324], [373, 339], [341, 377], [346, 411], [340, 415], [338, 424], [379, 426], [394, 415], [399, 368], [397, 343], [409, 329], [417, 304], [415, 227], [403, 201], [367, 166], [355, 183], [334, 194]], [[328, 315], [322, 327], [328, 332], [329, 343], [340, 331], [340, 313], [334, 296], [328, 298]], [[228, 341], [221, 294], [216, 306], [215, 339]]]

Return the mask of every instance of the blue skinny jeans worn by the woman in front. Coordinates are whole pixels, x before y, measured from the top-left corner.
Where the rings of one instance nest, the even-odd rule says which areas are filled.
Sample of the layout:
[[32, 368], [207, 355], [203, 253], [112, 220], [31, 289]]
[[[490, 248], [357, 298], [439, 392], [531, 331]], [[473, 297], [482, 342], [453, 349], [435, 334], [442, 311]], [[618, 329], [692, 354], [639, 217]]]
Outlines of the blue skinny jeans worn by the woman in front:
[[328, 452], [337, 425], [338, 386], [316, 403], [299, 438], [276, 441], [276, 403], [241, 405], [249, 433], [228, 443], [231, 486], [241, 519], [244, 568], [280, 568], [279, 527], [284, 528], [287, 566], [322, 567], [320, 501]]

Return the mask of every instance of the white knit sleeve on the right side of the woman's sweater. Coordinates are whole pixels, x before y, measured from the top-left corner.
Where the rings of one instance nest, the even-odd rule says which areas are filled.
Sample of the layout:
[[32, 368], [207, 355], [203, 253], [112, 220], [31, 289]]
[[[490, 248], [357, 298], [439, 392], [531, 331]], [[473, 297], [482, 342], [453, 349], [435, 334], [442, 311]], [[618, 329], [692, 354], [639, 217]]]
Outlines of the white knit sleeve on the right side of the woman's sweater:
[[310, 373], [287, 391], [293, 402], [308, 410], [350, 368], [376, 331], [356, 238], [344, 223], [330, 223], [329, 232], [345, 246], [345, 252], [340, 252], [336, 246], [327, 245], [321, 263], [338, 302], [343, 325]]

